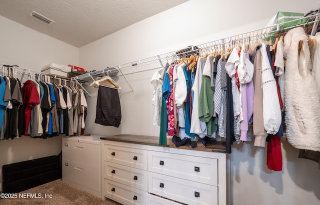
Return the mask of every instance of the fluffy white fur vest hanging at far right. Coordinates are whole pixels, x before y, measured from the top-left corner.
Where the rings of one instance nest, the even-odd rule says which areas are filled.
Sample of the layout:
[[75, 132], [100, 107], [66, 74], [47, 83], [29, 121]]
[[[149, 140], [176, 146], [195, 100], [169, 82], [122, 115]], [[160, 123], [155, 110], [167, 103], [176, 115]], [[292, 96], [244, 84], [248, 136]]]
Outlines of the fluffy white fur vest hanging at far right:
[[[303, 43], [298, 53], [300, 40]], [[302, 27], [287, 32], [283, 54], [286, 56], [284, 101], [287, 140], [295, 148], [320, 151], [320, 100], [310, 71], [310, 52]]]

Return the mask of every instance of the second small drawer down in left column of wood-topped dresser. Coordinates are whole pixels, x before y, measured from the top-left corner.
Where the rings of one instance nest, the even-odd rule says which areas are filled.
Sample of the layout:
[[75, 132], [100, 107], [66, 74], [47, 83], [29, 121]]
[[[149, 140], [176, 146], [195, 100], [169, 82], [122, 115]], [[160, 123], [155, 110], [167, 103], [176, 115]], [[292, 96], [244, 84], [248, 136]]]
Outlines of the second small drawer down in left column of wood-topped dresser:
[[147, 191], [146, 170], [104, 161], [104, 178]]

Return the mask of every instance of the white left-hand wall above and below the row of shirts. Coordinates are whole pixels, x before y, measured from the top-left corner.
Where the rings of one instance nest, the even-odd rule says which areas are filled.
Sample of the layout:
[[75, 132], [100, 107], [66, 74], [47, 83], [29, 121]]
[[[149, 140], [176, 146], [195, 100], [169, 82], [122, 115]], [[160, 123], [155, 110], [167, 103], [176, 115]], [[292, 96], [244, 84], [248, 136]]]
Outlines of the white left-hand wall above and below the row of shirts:
[[[78, 48], [0, 16], [0, 62], [40, 71], [41, 66], [51, 62], [78, 64]], [[1, 140], [0, 190], [3, 164], [56, 155], [60, 151], [61, 136]]]

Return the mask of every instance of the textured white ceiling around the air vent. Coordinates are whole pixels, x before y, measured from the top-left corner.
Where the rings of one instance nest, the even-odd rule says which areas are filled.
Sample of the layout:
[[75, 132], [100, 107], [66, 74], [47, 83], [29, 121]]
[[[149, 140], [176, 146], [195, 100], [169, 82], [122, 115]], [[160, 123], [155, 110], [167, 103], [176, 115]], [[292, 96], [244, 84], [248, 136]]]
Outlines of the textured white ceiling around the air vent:
[[[0, 15], [80, 47], [187, 0], [0, 0]], [[47, 25], [29, 14], [51, 20]]]

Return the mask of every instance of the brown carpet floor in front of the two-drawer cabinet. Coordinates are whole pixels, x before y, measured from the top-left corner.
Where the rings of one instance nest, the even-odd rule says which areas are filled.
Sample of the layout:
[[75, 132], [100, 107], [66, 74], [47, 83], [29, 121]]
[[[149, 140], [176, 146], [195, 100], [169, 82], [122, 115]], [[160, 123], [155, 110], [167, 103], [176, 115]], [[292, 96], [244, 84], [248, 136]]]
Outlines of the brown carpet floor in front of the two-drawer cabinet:
[[[20, 193], [20, 194], [19, 194]], [[17, 193], [16, 198], [0, 199], [0, 204], [98, 204], [98, 205], [120, 205], [120, 203], [101, 198], [87, 193], [81, 189], [63, 183], [61, 179], [57, 179], [24, 191]], [[30, 194], [35, 193], [38, 198], [31, 198]], [[40, 195], [39, 195], [40, 194]], [[45, 198], [45, 194], [52, 194], [52, 198]], [[32, 195], [31, 195], [32, 196]], [[34, 195], [33, 195], [34, 196]]]

